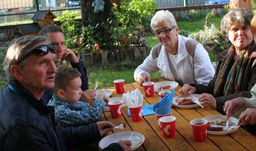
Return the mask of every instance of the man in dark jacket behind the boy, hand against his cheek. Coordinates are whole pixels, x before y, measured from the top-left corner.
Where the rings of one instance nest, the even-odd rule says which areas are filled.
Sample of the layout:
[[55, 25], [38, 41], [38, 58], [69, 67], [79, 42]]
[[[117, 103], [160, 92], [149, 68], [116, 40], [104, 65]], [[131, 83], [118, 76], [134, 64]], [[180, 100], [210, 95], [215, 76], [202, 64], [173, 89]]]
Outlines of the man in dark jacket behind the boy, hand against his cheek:
[[[84, 66], [83, 60], [79, 60], [75, 53], [65, 47], [65, 38], [63, 35], [63, 31], [61, 28], [55, 25], [49, 25], [44, 27], [40, 32], [39, 36], [46, 36], [51, 40], [51, 43], [55, 45], [57, 50], [57, 58], [55, 63], [60, 63], [61, 59], [65, 59], [70, 62], [73, 68], [76, 68], [82, 76], [80, 77], [82, 80], [81, 89], [84, 91], [81, 95], [81, 101], [85, 103], [90, 103], [91, 100], [96, 100], [95, 89], [88, 89], [88, 78], [86, 67]], [[53, 91], [51, 89], [47, 89], [43, 95], [45, 103], [47, 104], [50, 99], [52, 99]]]

